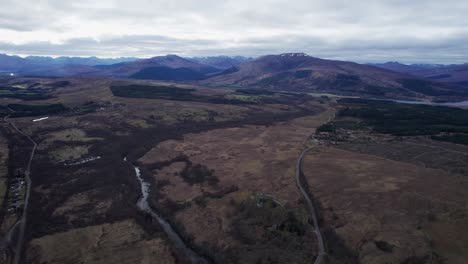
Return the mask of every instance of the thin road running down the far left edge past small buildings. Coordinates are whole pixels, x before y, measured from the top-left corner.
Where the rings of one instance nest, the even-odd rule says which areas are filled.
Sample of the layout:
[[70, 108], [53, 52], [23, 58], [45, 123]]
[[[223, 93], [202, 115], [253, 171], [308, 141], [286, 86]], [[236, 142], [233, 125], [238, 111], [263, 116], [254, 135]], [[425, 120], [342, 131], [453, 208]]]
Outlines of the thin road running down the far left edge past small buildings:
[[13, 259], [14, 264], [19, 264], [22, 257], [23, 251], [23, 244], [24, 244], [24, 233], [26, 231], [26, 220], [27, 220], [27, 212], [28, 212], [28, 205], [29, 205], [29, 197], [31, 195], [31, 163], [34, 158], [34, 154], [36, 153], [37, 143], [28, 135], [26, 135], [23, 131], [21, 131], [13, 122], [8, 121], [8, 116], [3, 119], [6, 123], [10, 124], [10, 126], [16, 130], [19, 134], [26, 137], [32, 143], [31, 154], [29, 156], [28, 164], [24, 171], [24, 177], [26, 179], [26, 195], [24, 198], [24, 207], [23, 207], [23, 214], [21, 215], [21, 219], [19, 220], [19, 235], [18, 241], [15, 247], [15, 257]]

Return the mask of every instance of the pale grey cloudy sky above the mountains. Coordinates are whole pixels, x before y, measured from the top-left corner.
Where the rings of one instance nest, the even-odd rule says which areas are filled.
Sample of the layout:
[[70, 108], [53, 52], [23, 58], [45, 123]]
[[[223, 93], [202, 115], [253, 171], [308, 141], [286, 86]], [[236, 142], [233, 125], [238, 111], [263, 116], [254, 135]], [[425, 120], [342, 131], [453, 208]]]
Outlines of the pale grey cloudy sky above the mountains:
[[467, 0], [0, 0], [0, 53], [468, 62]]

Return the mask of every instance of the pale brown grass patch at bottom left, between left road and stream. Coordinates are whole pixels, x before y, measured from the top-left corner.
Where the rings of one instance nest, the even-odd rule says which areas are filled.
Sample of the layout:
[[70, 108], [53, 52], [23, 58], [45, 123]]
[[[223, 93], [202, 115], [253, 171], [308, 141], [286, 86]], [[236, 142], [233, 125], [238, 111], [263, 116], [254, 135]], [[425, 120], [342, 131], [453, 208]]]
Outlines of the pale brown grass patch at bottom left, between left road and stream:
[[176, 263], [166, 241], [149, 239], [130, 220], [43, 236], [33, 239], [28, 249], [28, 263], [149, 264], [154, 259], [161, 264]]

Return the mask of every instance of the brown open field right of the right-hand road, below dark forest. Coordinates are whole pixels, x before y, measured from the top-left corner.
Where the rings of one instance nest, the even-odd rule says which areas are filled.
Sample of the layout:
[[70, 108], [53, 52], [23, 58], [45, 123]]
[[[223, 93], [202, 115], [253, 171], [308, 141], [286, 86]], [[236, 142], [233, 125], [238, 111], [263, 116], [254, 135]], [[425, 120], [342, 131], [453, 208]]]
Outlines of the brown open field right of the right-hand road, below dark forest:
[[308, 155], [304, 174], [360, 263], [468, 261], [466, 177], [331, 147]]

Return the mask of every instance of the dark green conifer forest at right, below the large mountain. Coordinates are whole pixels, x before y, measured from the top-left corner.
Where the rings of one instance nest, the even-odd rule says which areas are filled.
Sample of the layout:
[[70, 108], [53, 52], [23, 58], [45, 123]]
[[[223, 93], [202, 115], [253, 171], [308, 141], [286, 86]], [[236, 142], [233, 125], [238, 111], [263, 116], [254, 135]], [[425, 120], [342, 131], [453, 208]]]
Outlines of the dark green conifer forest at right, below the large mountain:
[[[339, 100], [341, 117], [362, 120], [373, 131], [395, 136], [432, 136], [433, 139], [468, 144], [468, 110], [392, 101], [346, 98]], [[319, 130], [331, 132], [334, 124]]]

